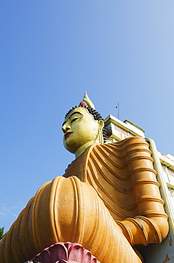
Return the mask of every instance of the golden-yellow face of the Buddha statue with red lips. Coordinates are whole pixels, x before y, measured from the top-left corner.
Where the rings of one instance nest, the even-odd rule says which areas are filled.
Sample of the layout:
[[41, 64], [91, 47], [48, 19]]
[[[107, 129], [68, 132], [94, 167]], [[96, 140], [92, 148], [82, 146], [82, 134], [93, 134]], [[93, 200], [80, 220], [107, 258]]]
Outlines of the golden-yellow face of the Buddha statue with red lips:
[[76, 107], [65, 117], [62, 124], [63, 144], [67, 151], [75, 154], [80, 146], [99, 139], [99, 129], [102, 127], [102, 120], [94, 120], [85, 107]]

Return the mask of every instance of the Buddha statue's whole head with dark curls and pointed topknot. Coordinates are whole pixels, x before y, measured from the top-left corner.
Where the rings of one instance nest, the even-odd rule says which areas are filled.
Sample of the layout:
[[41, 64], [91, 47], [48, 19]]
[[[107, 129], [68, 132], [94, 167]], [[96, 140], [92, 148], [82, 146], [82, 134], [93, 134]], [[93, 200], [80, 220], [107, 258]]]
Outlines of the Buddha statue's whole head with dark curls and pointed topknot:
[[[87, 94], [85, 93], [85, 97]], [[89, 100], [89, 98], [87, 97]], [[89, 107], [88, 104], [92, 107]], [[94, 143], [104, 143], [105, 131], [102, 116], [94, 109], [92, 102], [80, 102], [70, 109], [62, 124], [63, 144], [76, 157]]]

